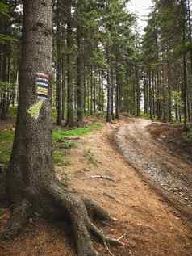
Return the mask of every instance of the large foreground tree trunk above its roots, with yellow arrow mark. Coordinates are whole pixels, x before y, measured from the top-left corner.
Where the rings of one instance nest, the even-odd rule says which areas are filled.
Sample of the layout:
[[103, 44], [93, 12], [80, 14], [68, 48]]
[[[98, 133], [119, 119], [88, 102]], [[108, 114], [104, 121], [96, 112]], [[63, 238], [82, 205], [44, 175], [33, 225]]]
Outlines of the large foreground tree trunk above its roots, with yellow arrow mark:
[[54, 178], [50, 99], [38, 99], [35, 84], [36, 73], [52, 73], [52, 1], [25, 1], [23, 9], [19, 109], [7, 174], [9, 197], [15, 204], [24, 191], [42, 195], [44, 183]]

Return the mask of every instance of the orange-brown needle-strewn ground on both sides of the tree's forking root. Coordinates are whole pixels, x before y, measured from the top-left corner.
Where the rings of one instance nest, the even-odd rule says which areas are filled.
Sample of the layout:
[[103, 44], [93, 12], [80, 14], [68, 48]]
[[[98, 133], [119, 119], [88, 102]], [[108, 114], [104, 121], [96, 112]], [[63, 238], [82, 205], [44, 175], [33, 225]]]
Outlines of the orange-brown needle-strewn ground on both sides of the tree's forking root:
[[[190, 256], [189, 227], [125, 161], [111, 140], [124, 126], [127, 122], [120, 121], [82, 137], [66, 158], [68, 165], [56, 169], [58, 177], [67, 179], [77, 191], [95, 199], [118, 219], [116, 225], [102, 227], [111, 236], [123, 236], [126, 246], [110, 247], [115, 256]], [[65, 233], [70, 233], [67, 226]], [[63, 228], [31, 220], [26, 232], [15, 241], [0, 243], [0, 255], [75, 255], [73, 243], [65, 233]], [[110, 255], [105, 247], [95, 246], [102, 256]]]

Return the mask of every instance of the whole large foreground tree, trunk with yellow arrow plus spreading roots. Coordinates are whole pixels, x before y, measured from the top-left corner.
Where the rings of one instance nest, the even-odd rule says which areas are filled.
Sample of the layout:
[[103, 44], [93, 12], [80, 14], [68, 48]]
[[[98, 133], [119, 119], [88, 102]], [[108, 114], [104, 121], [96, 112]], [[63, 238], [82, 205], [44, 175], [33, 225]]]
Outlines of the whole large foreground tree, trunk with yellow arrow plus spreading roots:
[[78, 256], [98, 255], [90, 233], [101, 241], [120, 243], [104, 236], [90, 216], [110, 216], [90, 199], [70, 191], [56, 178], [52, 166], [51, 100], [37, 97], [36, 73], [52, 72], [52, 0], [24, 1], [23, 52], [19, 82], [19, 111], [15, 141], [7, 170], [6, 187], [12, 216], [0, 239], [21, 232], [32, 212], [70, 220]]

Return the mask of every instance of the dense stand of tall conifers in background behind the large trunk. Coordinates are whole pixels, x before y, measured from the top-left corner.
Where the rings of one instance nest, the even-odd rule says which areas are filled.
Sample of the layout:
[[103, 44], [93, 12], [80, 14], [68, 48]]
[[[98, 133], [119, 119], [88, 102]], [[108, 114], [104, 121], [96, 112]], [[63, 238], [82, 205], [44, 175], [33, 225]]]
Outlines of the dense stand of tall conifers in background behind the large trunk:
[[[191, 121], [190, 0], [152, 1], [140, 36], [127, 2], [55, 1], [52, 108], [73, 127], [85, 115]], [[18, 101], [22, 1], [0, 3], [0, 118]]]

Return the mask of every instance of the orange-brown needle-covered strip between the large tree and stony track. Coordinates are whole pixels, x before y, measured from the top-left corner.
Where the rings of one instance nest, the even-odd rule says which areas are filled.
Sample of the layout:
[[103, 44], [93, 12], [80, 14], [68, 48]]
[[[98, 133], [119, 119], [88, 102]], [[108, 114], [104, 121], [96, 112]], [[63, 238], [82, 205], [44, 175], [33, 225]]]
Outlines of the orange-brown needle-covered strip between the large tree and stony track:
[[[136, 120], [134, 124], [125, 119], [106, 124], [102, 131], [83, 137], [77, 149], [72, 149], [69, 155], [71, 164], [66, 166], [69, 183], [81, 193], [90, 195], [119, 220], [116, 227], [105, 229], [112, 236], [123, 235], [127, 244], [124, 249], [112, 248], [115, 255], [191, 255], [190, 229], [126, 162], [112, 139], [115, 136], [124, 139], [123, 132], [129, 132], [129, 128], [131, 132], [136, 131], [137, 122], [139, 129], [150, 124], [148, 120]], [[148, 136], [143, 140], [148, 141]], [[63, 173], [60, 168], [61, 179]]]

